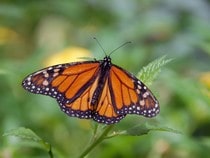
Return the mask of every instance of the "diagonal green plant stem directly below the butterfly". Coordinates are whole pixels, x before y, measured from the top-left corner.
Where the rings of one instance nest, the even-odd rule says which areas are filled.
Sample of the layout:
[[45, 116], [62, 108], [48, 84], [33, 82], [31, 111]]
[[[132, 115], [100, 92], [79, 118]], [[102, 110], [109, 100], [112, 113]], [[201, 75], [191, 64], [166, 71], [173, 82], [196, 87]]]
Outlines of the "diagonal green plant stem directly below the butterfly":
[[[99, 143], [101, 143], [109, 131], [114, 127], [114, 125], [108, 125], [104, 129], [104, 131], [101, 133], [99, 137], [96, 137], [96, 139], [82, 152], [82, 154], [79, 156], [79, 158], [84, 158], [95, 146], [97, 146]], [[93, 135], [95, 137], [95, 135]]]

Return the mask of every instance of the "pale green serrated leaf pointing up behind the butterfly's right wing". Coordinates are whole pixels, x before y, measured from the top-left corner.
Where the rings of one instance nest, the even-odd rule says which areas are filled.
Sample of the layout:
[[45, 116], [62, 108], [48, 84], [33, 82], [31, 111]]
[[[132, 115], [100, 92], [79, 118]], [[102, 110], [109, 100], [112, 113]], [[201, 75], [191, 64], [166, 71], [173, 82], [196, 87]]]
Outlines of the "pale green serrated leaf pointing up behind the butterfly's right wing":
[[147, 66], [144, 66], [137, 77], [146, 85], [151, 85], [152, 81], [157, 77], [158, 73], [160, 73], [161, 68], [172, 60], [165, 58], [166, 56], [164, 55], [152, 61]]

